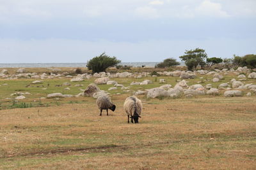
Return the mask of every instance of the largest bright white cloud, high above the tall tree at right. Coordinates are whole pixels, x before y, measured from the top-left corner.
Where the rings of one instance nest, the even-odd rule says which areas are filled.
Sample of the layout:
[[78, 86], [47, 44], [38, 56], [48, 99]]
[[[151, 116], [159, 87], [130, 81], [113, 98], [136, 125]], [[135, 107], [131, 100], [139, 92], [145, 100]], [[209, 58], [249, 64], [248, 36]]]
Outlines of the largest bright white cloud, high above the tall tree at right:
[[222, 10], [220, 3], [212, 3], [209, 0], [203, 1], [200, 6], [195, 9], [198, 15], [212, 16], [212, 17], [230, 17], [226, 11]]

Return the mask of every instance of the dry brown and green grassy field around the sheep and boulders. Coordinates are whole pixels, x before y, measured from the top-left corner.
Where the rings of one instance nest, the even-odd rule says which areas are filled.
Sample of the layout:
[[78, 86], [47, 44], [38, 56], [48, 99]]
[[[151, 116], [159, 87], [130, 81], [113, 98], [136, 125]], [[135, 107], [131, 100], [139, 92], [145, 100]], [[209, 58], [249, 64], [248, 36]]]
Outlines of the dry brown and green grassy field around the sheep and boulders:
[[[202, 79], [189, 80], [189, 85]], [[158, 77], [175, 85], [173, 77]], [[204, 79], [211, 78], [204, 76]], [[234, 75], [225, 76], [218, 87]], [[115, 78], [128, 86], [131, 81], [155, 78]], [[0, 80], [0, 169], [255, 169], [256, 97], [201, 96], [192, 99], [146, 99], [140, 124], [127, 124], [122, 105], [130, 92], [109, 91], [115, 112], [99, 117], [92, 97], [44, 99], [52, 92], [78, 94], [92, 80], [56, 87], [68, 79]], [[255, 83], [248, 80], [245, 83]], [[7, 85], [4, 85], [7, 84]], [[49, 85], [48, 85], [49, 84]], [[83, 87], [74, 87], [83, 84]], [[99, 85], [107, 90], [111, 85]], [[42, 90], [47, 88], [46, 90]], [[30, 92], [15, 103], [13, 92]], [[115, 95], [120, 93], [120, 95]], [[12, 97], [11, 97], [12, 98]], [[31, 104], [19, 108], [21, 103]]]

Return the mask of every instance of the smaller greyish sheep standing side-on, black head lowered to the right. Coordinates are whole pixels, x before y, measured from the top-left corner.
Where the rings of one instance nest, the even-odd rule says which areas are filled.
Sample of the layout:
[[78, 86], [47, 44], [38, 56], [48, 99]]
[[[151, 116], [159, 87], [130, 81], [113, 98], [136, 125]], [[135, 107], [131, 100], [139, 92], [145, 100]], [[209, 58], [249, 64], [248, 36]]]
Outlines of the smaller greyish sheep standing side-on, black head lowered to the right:
[[115, 111], [116, 109], [115, 104], [113, 104], [111, 99], [106, 95], [102, 95], [98, 97], [98, 99], [96, 100], [96, 104], [100, 109], [100, 116], [101, 116], [102, 110], [107, 110], [107, 116], [108, 116], [108, 110]]

